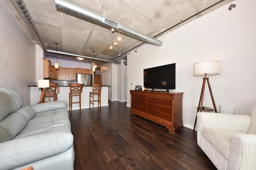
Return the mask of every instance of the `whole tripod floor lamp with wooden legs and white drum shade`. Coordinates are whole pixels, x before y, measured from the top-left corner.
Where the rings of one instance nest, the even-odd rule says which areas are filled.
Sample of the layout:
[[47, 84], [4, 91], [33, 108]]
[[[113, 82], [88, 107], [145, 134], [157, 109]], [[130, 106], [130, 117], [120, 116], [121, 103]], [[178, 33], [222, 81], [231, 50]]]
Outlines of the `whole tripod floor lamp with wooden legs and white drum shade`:
[[[212, 95], [212, 88], [210, 86], [209, 78], [206, 76], [220, 74], [220, 61], [204, 61], [204, 62], [200, 62], [200, 63], [195, 63], [193, 71], [194, 71], [194, 76], [204, 76], [200, 100], [199, 100], [199, 104], [197, 107], [197, 112], [199, 110], [200, 110], [200, 112], [202, 110], [205, 110], [205, 111], [215, 111], [215, 113], [217, 113], [216, 104], [214, 102], [214, 98]], [[203, 107], [204, 89], [205, 89], [206, 81], [207, 81], [207, 84], [208, 84], [208, 87], [210, 90], [210, 95], [212, 98], [212, 104], [213, 104], [214, 109], [208, 108], [208, 107]], [[196, 119], [197, 119], [197, 116], [196, 116]], [[196, 127], [196, 120], [195, 120], [193, 131], [195, 131], [195, 127]]]

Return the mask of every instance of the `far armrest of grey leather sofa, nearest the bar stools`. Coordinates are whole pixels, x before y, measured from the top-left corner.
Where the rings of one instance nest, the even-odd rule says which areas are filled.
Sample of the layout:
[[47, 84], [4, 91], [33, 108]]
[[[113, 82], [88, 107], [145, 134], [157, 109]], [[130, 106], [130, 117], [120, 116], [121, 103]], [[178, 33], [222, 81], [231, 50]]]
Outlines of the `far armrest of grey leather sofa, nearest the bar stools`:
[[51, 111], [56, 109], [66, 109], [67, 102], [66, 101], [54, 101], [54, 102], [45, 102], [34, 104], [31, 106], [36, 113], [44, 112], [44, 111]]

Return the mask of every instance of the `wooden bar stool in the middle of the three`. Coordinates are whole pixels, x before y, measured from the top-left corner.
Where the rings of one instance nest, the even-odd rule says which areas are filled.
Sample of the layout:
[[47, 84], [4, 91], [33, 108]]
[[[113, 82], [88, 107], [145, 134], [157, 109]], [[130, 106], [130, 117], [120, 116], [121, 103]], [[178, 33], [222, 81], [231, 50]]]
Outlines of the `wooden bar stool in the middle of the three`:
[[[69, 87], [70, 87], [70, 93], [69, 93], [70, 114], [72, 113], [72, 104], [74, 104], [74, 103], [79, 103], [80, 113], [81, 113], [81, 93], [82, 93], [83, 86], [82, 86], [82, 84], [70, 83]], [[73, 102], [72, 101], [73, 96], [79, 96], [79, 102]], [[70, 110], [70, 108], [71, 108], [71, 110]]]

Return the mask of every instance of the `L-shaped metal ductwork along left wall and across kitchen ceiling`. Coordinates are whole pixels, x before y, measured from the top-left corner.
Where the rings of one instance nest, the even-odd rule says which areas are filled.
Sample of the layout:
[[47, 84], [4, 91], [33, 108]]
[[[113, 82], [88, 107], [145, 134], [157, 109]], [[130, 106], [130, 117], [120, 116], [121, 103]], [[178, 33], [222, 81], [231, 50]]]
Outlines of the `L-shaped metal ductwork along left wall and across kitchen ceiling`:
[[23, 0], [12, 0], [12, 3], [14, 4], [15, 8], [18, 10], [18, 12], [19, 12], [20, 16], [22, 17], [23, 21], [26, 23], [28, 29], [30, 30], [30, 32], [32, 33], [32, 35], [36, 39], [37, 43], [40, 45], [40, 47], [42, 48], [42, 50], [44, 52], [51, 52], [51, 53], [56, 53], [57, 52], [58, 54], [70, 55], [70, 56], [74, 56], [74, 57], [82, 57], [82, 58], [85, 58], [85, 59], [90, 59], [92, 61], [100, 61], [100, 62], [104, 62], [104, 63], [121, 64], [120, 61], [96, 59], [96, 58], [88, 57], [88, 56], [84, 56], [84, 55], [76, 55], [76, 54], [65, 53], [65, 52], [61, 52], [61, 51], [47, 50], [45, 45], [44, 45], [44, 41], [42, 40], [41, 35], [39, 34], [39, 32], [36, 28], [36, 25], [34, 24], [34, 21], [33, 21], [32, 17], [30, 16], [30, 13], [29, 13], [24, 1]]

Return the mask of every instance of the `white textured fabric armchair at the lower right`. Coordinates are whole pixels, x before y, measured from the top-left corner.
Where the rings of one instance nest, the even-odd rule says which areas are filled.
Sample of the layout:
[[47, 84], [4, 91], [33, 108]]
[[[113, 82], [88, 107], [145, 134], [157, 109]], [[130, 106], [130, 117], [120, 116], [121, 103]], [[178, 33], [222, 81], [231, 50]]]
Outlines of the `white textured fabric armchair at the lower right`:
[[255, 170], [256, 105], [251, 116], [198, 112], [197, 143], [218, 170]]

